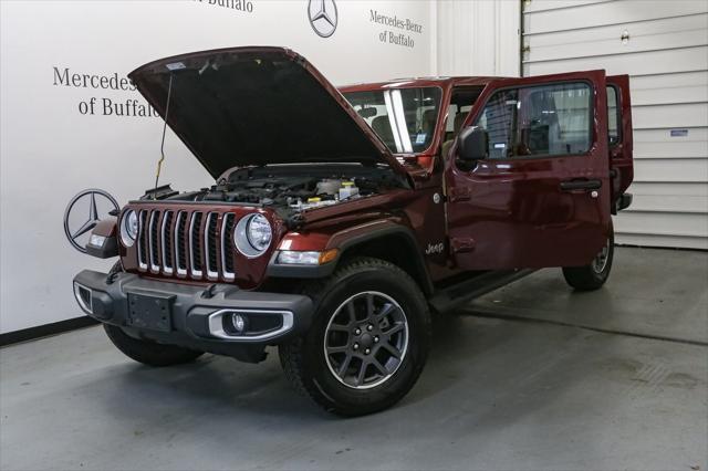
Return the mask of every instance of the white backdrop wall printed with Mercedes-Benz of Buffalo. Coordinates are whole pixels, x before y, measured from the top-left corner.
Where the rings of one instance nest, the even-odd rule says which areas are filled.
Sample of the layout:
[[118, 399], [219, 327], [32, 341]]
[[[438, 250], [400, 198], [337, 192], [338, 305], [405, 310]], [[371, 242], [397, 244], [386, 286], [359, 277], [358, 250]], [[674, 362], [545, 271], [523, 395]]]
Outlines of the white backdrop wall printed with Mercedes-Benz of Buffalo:
[[[121, 205], [138, 197], [153, 185], [159, 156], [158, 118], [103, 114], [104, 98], [145, 103], [137, 92], [65, 85], [54, 67], [60, 76], [69, 69], [70, 77], [119, 80], [171, 54], [264, 44], [300, 52], [337, 85], [433, 72], [429, 1], [337, 0], [336, 8], [336, 31], [320, 38], [306, 0], [0, 0], [0, 333], [81, 315], [71, 294], [73, 275], [84, 268], [107, 270], [113, 261], [69, 245], [64, 207], [91, 187]], [[423, 29], [382, 24], [372, 10]], [[388, 42], [391, 32], [408, 36], [413, 46]], [[91, 98], [94, 114], [82, 114], [81, 104]], [[166, 148], [162, 182], [180, 190], [211, 184], [177, 138], [168, 135]]]

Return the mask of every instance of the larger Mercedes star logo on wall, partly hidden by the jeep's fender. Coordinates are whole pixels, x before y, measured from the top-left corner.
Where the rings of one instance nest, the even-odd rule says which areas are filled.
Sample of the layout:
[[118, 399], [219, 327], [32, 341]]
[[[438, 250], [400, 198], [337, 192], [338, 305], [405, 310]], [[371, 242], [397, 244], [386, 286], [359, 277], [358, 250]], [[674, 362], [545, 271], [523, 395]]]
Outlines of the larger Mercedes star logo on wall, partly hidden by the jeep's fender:
[[[64, 211], [64, 233], [69, 243], [86, 253], [86, 242], [91, 230], [101, 219], [105, 219], [118, 203], [108, 192], [91, 188], [73, 197]], [[103, 217], [103, 218], [102, 218]]]

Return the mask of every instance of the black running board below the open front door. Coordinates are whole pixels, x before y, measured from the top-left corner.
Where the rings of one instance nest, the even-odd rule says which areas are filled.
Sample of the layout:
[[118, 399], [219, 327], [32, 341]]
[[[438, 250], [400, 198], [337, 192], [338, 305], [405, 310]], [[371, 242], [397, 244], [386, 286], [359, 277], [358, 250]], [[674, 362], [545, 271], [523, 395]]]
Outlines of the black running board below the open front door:
[[429, 303], [437, 312], [448, 312], [460, 305], [522, 279], [535, 270], [499, 270], [487, 272], [470, 280], [436, 291]]

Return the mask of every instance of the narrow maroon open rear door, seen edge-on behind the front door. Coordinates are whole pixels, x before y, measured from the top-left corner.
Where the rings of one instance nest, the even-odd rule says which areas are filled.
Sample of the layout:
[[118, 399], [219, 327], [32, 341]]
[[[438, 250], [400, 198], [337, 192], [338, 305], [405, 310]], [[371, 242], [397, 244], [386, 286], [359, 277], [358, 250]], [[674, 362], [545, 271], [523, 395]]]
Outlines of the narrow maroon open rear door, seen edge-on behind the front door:
[[607, 77], [607, 132], [613, 207], [634, 178], [629, 76]]

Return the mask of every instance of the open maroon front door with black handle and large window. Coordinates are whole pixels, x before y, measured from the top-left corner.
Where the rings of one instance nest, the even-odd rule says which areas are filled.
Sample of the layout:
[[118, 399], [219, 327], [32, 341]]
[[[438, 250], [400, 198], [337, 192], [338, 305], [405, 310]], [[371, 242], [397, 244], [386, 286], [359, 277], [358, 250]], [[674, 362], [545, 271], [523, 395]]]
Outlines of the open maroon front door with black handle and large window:
[[[604, 71], [491, 82], [462, 127], [487, 158], [446, 163], [450, 251], [466, 270], [590, 263], [610, 229]], [[456, 144], [457, 146], [457, 144]]]

